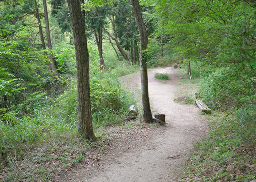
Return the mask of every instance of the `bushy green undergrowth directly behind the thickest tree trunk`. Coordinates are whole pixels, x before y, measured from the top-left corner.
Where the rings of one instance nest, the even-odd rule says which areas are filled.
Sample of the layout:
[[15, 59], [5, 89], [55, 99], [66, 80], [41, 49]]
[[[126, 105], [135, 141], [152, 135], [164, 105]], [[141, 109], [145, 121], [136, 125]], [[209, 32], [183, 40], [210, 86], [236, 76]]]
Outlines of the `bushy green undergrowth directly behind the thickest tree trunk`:
[[[90, 67], [91, 111], [96, 127], [108, 126], [122, 122], [120, 115], [128, 111], [134, 102], [129, 93], [124, 90], [118, 77], [113, 72], [100, 71], [98, 63], [93, 61]], [[70, 90], [59, 96], [62, 117], [67, 121], [77, 120], [77, 87], [73, 80]]]

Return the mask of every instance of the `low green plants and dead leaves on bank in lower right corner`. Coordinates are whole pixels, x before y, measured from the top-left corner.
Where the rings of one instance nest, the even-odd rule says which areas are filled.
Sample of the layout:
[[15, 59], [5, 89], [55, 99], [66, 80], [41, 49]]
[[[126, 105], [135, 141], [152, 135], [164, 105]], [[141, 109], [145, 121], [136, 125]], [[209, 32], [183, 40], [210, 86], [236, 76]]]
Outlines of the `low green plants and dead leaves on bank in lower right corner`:
[[182, 181], [255, 178], [255, 111], [248, 107], [213, 119], [209, 136], [195, 145], [194, 154], [185, 161]]

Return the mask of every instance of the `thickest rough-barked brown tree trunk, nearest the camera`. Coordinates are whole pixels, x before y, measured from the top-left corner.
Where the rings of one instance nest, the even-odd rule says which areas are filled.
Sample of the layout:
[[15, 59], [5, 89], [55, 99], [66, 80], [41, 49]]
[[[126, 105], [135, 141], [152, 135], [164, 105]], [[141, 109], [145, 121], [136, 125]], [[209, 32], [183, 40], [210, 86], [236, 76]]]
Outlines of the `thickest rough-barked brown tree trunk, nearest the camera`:
[[71, 24], [74, 35], [77, 65], [77, 101], [79, 134], [90, 141], [96, 141], [93, 132], [90, 105], [89, 54], [85, 27], [79, 0], [68, 0]]

